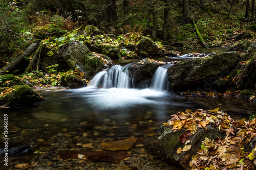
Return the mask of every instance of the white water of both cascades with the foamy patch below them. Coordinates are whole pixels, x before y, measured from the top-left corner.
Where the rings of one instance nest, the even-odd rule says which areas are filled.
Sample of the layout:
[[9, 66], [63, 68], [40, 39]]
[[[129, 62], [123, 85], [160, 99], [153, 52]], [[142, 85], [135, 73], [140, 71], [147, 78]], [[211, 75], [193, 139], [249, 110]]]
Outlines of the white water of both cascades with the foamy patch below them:
[[136, 107], [138, 105], [156, 105], [160, 103], [168, 87], [167, 68], [170, 65], [159, 67], [152, 79], [150, 88], [133, 88], [133, 79], [127, 67], [113, 65], [109, 71], [101, 71], [92, 79], [88, 87], [74, 89], [91, 106], [97, 109], [113, 109]]

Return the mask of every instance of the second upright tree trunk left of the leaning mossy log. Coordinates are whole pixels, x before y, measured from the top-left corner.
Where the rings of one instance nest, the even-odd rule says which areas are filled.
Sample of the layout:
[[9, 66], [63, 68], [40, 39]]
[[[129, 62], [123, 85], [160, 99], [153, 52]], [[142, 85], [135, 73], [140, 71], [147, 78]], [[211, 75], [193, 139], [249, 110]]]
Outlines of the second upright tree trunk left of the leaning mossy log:
[[163, 40], [167, 41], [169, 39], [170, 30], [170, 0], [164, 0], [164, 18], [163, 18]]

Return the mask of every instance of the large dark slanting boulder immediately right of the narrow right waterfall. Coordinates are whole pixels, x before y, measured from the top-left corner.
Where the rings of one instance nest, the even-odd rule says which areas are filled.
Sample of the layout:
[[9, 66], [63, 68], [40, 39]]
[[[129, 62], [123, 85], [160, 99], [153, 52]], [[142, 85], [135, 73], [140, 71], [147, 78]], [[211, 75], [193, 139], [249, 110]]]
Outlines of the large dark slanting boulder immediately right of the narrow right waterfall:
[[240, 54], [219, 53], [206, 58], [181, 61], [168, 69], [168, 80], [173, 90], [210, 90], [215, 81], [236, 66]]

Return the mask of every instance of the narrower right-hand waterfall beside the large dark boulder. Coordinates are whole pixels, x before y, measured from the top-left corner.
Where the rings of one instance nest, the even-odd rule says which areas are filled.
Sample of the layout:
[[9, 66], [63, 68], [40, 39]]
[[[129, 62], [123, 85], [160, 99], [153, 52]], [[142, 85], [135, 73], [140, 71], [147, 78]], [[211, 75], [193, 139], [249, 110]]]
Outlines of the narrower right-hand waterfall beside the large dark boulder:
[[167, 90], [169, 86], [169, 81], [167, 78], [167, 70], [170, 66], [172, 65], [170, 64], [161, 65], [160, 67], [157, 68], [151, 80], [150, 88], [152, 90], [157, 90], [157, 91]]

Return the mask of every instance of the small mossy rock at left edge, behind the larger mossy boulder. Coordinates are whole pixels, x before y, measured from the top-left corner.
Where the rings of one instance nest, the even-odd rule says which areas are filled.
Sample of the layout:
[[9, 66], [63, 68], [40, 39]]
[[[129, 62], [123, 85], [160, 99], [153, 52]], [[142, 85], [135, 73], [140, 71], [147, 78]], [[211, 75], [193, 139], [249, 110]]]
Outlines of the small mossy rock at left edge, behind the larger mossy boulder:
[[3, 75], [0, 77], [1, 87], [11, 87], [14, 85], [24, 85], [23, 81], [13, 75]]

